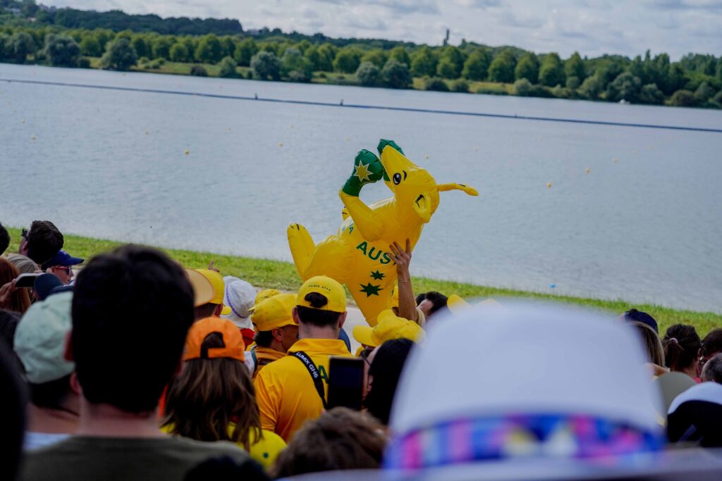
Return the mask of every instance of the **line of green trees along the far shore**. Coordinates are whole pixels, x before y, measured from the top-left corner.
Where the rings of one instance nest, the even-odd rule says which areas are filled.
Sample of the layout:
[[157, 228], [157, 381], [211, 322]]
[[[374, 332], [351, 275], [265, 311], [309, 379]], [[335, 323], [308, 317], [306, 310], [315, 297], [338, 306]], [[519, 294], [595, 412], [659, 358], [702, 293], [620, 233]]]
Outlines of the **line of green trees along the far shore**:
[[678, 62], [649, 51], [631, 59], [579, 53], [563, 59], [465, 41], [458, 47], [372, 40], [339, 46], [315, 36], [296, 41], [300, 34], [271, 34], [165, 35], [6, 22], [0, 61], [89, 66], [89, 58], [100, 57], [103, 68], [118, 70], [173, 61], [191, 64], [196, 75], [207, 74], [204, 64], [211, 64], [220, 76], [260, 80], [722, 108], [722, 58], [712, 55], [690, 53]]

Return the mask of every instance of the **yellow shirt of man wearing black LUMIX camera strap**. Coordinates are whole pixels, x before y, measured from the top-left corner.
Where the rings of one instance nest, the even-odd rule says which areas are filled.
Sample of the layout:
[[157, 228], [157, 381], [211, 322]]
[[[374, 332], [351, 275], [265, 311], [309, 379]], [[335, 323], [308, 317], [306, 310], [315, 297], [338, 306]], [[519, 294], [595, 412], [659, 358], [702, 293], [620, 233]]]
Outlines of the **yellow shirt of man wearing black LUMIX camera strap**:
[[270, 363], [258, 372], [253, 384], [261, 410], [261, 428], [277, 433], [286, 442], [306, 420], [318, 418], [323, 411], [323, 402], [308, 369], [291, 356], [300, 350], [316, 364], [326, 399], [329, 395], [329, 357], [351, 356], [342, 340], [301, 339], [288, 350], [289, 356]]

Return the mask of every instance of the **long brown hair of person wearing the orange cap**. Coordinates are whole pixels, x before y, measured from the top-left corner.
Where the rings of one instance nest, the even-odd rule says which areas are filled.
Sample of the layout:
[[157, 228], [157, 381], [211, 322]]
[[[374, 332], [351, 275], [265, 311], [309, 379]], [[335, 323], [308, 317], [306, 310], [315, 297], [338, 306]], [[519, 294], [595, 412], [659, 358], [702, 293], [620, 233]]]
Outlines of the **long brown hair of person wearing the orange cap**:
[[[224, 348], [223, 338], [211, 332], [202, 349]], [[235, 423], [235, 430], [228, 426]], [[186, 361], [173, 380], [165, 400], [163, 426], [170, 432], [198, 441], [232, 441], [248, 451], [251, 429], [261, 438], [261, 415], [256, 389], [245, 364], [237, 359], [212, 358]]]

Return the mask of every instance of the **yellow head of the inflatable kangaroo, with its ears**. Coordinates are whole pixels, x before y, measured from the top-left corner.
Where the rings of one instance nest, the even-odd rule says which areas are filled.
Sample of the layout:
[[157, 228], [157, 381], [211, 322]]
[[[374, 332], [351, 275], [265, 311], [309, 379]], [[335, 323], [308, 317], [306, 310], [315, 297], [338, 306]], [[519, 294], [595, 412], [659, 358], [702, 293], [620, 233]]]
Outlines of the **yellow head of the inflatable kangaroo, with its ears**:
[[469, 195], [479, 195], [474, 188], [463, 184], [437, 184], [426, 169], [411, 162], [391, 145], [383, 146], [380, 154], [383, 180], [393, 192], [401, 216], [411, 215], [425, 224], [439, 206], [439, 192], [462, 190]]

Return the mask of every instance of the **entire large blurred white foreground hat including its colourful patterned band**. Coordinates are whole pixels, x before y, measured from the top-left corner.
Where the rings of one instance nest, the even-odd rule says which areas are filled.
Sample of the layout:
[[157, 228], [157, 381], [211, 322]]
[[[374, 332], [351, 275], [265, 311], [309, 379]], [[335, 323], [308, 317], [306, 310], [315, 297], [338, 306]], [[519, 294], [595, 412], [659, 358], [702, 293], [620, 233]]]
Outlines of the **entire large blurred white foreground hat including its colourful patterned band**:
[[[439, 353], [453, 355], [453, 369]], [[508, 304], [447, 314], [406, 363], [384, 465], [409, 472], [520, 457], [621, 462], [657, 452], [661, 399], [644, 362], [634, 330], [596, 312]]]

